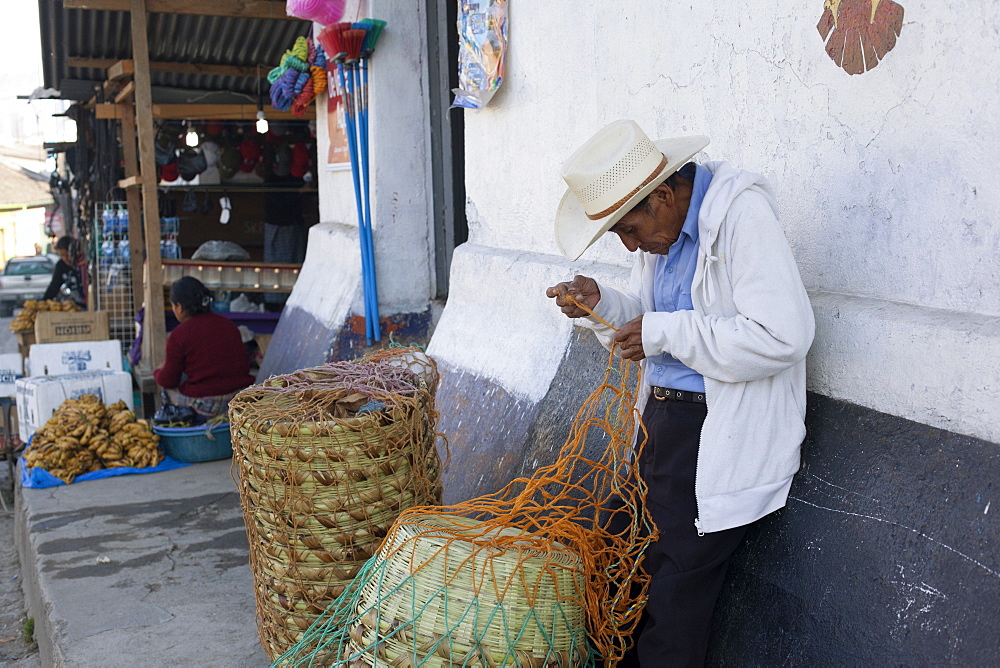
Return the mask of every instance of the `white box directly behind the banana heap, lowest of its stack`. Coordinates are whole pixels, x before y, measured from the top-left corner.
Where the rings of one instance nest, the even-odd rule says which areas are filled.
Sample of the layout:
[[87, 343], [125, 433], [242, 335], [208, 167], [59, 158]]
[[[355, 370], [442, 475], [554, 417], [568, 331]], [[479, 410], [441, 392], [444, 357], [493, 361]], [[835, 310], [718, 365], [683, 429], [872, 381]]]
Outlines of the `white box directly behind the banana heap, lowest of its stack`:
[[67, 399], [96, 394], [105, 405], [121, 400], [133, 407], [132, 377], [124, 371], [20, 378], [15, 386], [18, 433], [25, 443]]

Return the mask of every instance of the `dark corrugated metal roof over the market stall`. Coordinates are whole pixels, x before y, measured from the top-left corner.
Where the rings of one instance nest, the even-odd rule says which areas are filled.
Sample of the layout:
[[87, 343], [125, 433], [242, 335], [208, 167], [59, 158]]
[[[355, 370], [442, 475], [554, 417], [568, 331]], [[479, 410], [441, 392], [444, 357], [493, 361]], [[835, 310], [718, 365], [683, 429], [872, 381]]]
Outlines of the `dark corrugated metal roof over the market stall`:
[[[283, 2], [274, 5], [275, 11], [284, 13]], [[69, 67], [68, 58], [132, 57], [128, 12], [65, 9], [61, 0], [38, 0], [38, 13], [45, 86], [61, 91], [64, 98], [89, 98], [93, 86], [105, 78], [100, 68]], [[308, 21], [191, 14], [150, 14], [148, 21], [151, 61], [260, 66], [261, 77], [278, 64], [295, 38], [306, 35], [311, 27]], [[233, 91], [254, 100], [257, 96], [254, 77], [174, 72], [151, 72], [150, 77], [156, 101], [176, 99], [170, 89]], [[260, 85], [266, 92], [266, 82]]]

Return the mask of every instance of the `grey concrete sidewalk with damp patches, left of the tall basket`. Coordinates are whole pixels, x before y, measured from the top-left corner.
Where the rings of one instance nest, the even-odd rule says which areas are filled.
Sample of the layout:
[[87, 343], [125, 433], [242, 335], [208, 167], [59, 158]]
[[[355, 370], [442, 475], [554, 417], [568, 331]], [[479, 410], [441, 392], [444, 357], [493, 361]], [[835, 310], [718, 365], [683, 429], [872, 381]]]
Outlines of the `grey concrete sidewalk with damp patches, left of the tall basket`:
[[267, 666], [230, 461], [18, 489], [43, 665]]

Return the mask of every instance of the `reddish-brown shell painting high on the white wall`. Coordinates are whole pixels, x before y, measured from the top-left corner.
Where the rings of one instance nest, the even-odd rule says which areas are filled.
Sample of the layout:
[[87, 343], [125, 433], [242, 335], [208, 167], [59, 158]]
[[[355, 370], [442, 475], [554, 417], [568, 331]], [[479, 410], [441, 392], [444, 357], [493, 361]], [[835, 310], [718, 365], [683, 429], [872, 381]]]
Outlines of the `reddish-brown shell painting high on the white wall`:
[[903, 8], [892, 0], [826, 0], [816, 29], [848, 74], [864, 74], [896, 46]]

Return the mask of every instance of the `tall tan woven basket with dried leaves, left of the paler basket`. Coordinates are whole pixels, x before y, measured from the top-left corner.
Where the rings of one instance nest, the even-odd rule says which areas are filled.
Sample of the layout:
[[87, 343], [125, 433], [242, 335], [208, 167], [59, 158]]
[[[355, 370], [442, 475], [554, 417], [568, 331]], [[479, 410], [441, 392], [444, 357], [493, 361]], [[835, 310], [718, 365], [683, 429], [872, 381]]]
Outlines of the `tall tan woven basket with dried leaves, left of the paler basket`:
[[231, 404], [258, 631], [272, 658], [344, 591], [400, 512], [441, 497], [426, 392], [383, 394], [379, 412], [318, 420], [288, 401], [293, 391], [304, 396], [302, 386], [313, 404], [345, 394], [323, 378], [287, 392], [248, 388]]

